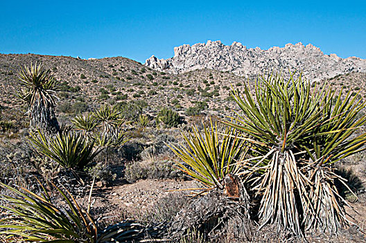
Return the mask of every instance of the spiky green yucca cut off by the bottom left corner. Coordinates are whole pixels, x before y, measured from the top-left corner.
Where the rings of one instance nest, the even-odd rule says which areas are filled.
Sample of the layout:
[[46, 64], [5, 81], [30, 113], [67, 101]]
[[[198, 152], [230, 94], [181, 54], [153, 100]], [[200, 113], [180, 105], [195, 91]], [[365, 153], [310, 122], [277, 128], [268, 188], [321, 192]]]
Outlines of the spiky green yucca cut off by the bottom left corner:
[[65, 193], [53, 185], [67, 206], [60, 208], [55, 206], [41, 183], [41, 195], [24, 187], [10, 187], [3, 183], [0, 187], [13, 195], [0, 196], [0, 201], [6, 203], [0, 208], [12, 213], [10, 217], [0, 219], [0, 234], [8, 242], [96, 242], [97, 228], [93, 219], [69, 191]]

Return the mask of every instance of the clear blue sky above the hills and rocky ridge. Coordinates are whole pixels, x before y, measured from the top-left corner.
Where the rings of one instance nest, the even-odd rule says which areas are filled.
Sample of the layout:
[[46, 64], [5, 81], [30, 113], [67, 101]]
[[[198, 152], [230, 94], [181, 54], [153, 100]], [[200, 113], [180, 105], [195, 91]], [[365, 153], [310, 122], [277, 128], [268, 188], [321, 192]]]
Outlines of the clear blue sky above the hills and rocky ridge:
[[207, 40], [268, 49], [314, 44], [366, 58], [365, 1], [1, 0], [0, 53], [145, 62]]

